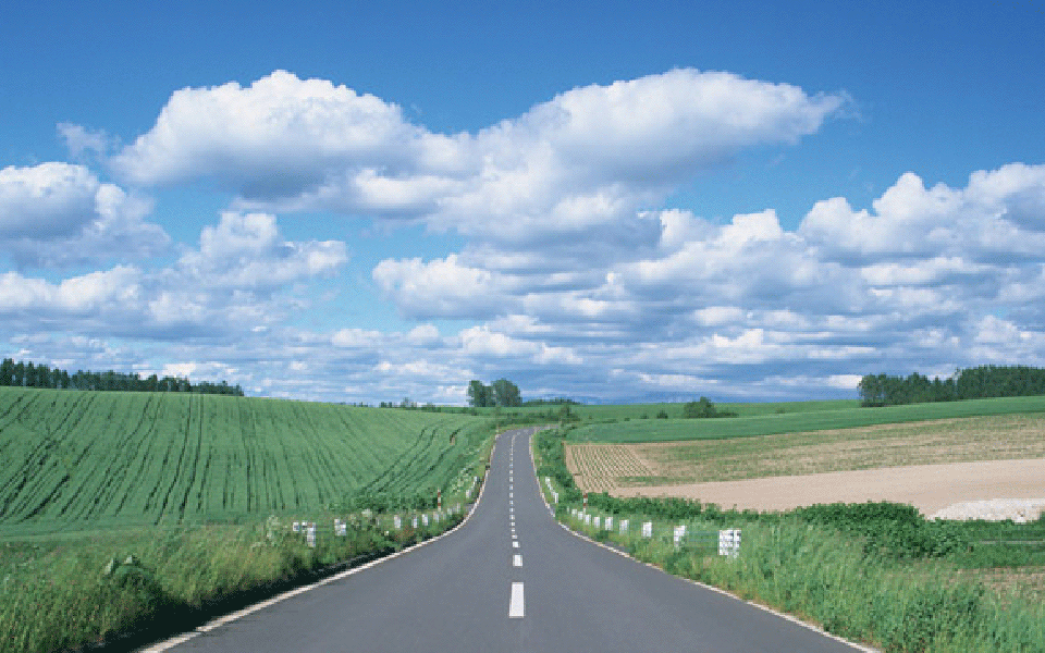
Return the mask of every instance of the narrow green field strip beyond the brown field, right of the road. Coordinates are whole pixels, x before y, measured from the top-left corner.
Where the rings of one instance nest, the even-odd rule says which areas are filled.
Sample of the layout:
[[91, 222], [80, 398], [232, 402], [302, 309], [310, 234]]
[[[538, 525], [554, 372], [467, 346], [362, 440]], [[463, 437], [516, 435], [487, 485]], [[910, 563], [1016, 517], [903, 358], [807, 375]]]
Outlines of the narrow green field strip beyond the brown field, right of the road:
[[[662, 405], [652, 405], [656, 408]], [[625, 417], [612, 423], [581, 422], [567, 433], [570, 442], [671, 442], [775, 435], [850, 429], [874, 424], [975, 417], [1045, 412], [1045, 396], [967, 399], [938, 404], [910, 404], [883, 408], [861, 408], [857, 402], [808, 402], [798, 404], [722, 404], [721, 409], [739, 414], [721, 419], [635, 419]], [[660, 408], [657, 408], [660, 409]], [[654, 414], [648, 414], [653, 418]], [[668, 412], [669, 417], [673, 415]], [[676, 416], [681, 415], [679, 406]]]

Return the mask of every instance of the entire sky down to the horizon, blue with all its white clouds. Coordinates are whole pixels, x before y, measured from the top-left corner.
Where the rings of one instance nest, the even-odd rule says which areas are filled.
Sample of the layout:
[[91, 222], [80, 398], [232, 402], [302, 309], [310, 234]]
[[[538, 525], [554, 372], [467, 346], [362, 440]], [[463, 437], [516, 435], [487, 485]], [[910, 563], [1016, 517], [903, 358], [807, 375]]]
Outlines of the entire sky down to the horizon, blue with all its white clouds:
[[251, 394], [1045, 365], [1045, 4], [8, 3], [0, 354]]

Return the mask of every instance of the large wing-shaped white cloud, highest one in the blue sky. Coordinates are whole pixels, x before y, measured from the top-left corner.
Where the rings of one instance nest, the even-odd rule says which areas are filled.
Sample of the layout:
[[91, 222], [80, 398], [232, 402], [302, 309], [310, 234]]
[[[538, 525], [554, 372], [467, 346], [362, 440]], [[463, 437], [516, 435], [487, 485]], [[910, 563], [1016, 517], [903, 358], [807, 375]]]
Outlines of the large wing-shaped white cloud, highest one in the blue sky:
[[139, 185], [211, 180], [247, 209], [407, 218], [516, 244], [598, 227], [634, 243], [654, 235], [637, 209], [743, 148], [816, 132], [846, 101], [685, 69], [575, 88], [444, 135], [374, 96], [276, 71], [174, 93], [111, 165]]

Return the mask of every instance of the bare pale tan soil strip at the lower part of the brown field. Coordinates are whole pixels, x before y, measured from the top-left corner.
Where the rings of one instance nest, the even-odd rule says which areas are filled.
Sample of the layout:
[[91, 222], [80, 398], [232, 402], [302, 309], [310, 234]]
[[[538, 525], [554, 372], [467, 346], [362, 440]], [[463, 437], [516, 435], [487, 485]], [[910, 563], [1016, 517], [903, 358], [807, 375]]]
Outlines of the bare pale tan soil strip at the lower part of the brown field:
[[1045, 496], [1045, 459], [984, 460], [676, 485], [617, 488], [617, 496], [683, 496], [725, 508], [785, 510], [816, 503], [892, 501], [925, 515], [989, 498]]

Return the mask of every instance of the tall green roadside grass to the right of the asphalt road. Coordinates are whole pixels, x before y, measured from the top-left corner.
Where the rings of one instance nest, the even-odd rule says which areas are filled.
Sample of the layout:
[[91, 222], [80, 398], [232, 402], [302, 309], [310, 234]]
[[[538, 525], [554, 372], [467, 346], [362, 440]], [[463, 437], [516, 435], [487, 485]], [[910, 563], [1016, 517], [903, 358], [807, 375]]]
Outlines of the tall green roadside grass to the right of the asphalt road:
[[[737, 558], [718, 556], [714, 547], [684, 544], [671, 538], [674, 522], [656, 522], [654, 537], [639, 534], [641, 515], [628, 518], [630, 529], [595, 530], [561, 509], [576, 530], [610, 540], [639, 560], [665, 571], [729, 591], [737, 596], [796, 615], [827, 632], [881, 648], [889, 653], [967, 653], [970, 651], [1045, 651], [1045, 606], [988, 592], [963, 578], [946, 560], [902, 563], [892, 555], [868, 553], [860, 538], [804, 523], [746, 521]], [[692, 530], [715, 530], [716, 521], [689, 520]]]

